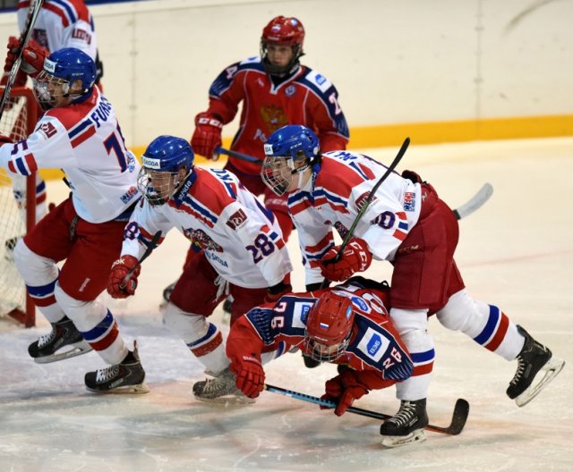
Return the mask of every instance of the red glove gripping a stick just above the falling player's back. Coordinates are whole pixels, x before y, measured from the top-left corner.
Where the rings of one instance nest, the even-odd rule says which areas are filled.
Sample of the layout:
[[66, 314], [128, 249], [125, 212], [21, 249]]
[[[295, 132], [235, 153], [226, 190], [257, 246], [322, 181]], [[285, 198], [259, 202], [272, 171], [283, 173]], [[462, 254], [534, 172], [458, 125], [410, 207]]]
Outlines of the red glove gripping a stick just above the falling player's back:
[[321, 273], [325, 279], [344, 281], [355, 272], [362, 272], [370, 267], [372, 254], [365, 240], [351, 239], [338, 261], [332, 262], [337, 257], [339, 249], [340, 246], [331, 248], [321, 259]]

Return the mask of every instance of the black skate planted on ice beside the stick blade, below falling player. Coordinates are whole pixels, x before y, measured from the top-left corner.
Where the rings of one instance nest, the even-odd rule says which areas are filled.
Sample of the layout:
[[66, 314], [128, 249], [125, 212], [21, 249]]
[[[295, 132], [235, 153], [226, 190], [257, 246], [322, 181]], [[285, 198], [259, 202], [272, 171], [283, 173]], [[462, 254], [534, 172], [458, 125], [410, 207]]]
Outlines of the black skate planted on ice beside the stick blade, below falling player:
[[398, 447], [408, 443], [425, 441], [423, 428], [428, 426], [426, 399], [400, 402], [400, 409], [393, 417], [387, 419], [380, 427], [382, 445]]

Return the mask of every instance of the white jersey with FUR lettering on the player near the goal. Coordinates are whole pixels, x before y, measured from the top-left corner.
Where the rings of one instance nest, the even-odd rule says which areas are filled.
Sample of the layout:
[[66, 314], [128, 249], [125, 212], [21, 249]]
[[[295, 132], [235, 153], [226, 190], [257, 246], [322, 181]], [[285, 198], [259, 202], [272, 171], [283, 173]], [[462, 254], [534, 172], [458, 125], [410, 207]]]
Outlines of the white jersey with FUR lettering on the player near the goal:
[[90, 223], [115, 219], [141, 196], [140, 164], [97, 87], [81, 103], [48, 110], [28, 139], [0, 147], [0, 165], [20, 175], [61, 168], [77, 214]]

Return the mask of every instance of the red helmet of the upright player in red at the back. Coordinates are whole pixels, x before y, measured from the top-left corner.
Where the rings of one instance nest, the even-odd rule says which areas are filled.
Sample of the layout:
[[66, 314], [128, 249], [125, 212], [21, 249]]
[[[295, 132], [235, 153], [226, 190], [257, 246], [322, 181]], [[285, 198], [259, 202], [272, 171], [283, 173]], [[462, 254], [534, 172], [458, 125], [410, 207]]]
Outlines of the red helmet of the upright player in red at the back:
[[[267, 72], [273, 75], [284, 75], [294, 70], [298, 65], [298, 59], [303, 55], [304, 26], [295, 17], [277, 16], [269, 21], [262, 30], [261, 57]], [[278, 46], [291, 46], [293, 58], [284, 67], [270, 64], [267, 58], [269, 44]]]

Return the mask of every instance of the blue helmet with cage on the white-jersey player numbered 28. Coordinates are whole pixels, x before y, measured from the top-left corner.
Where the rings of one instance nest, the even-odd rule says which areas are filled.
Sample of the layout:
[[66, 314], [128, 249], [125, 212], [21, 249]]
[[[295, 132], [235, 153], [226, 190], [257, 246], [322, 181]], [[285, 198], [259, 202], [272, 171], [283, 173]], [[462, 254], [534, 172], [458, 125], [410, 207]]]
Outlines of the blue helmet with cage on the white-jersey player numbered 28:
[[186, 139], [163, 135], [141, 156], [137, 186], [151, 205], [163, 205], [192, 174], [195, 155]]

